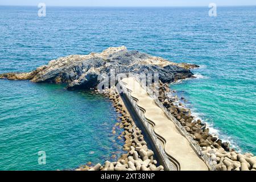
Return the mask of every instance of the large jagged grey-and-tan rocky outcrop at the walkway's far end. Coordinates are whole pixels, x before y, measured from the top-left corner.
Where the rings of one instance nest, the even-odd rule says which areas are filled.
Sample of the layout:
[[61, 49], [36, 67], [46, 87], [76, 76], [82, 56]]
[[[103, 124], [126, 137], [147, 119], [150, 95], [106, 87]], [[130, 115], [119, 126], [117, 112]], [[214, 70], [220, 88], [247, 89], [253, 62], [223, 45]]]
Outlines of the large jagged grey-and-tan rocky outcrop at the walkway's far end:
[[31, 80], [32, 82], [67, 83], [68, 89], [95, 88], [98, 76], [114, 69], [118, 73], [158, 73], [163, 82], [192, 77], [191, 68], [197, 65], [172, 63], [161, 57], [155, 57], [138, 51], [129, 51], [126, 47], [110, 47], [101, 53], [89, 55], [70, 55], [51, 60], [47, 65], [28, 73], [3, 73], [0, 78], [10, 80]]

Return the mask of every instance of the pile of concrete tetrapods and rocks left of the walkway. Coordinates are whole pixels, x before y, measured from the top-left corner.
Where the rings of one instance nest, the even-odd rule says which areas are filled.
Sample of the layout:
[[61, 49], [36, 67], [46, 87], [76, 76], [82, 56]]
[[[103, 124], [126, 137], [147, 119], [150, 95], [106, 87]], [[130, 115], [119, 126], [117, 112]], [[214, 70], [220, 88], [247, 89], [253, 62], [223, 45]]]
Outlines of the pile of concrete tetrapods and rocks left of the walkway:
[[[95, 91], [97, 92], [97, 90]], [[154, 152], [148, 149], [142, 131], [135, 125], [119, 93], [113, 88], [105, 89], [104, 96], [112, 101], [115, 111], [121, 114], [112, 133], [115, 134], [116, 127], [124, 130], [117, 138], [125, 139], [123, 150], [127, 153], [122, 154], [116, 162], [107, 160], [104, 165], [98, 163], [95, 166], [88, 162], [87, 165], [81, 166], [75, 171], [163, 171], [163, 166], [156, 165], [158, 162], [154, 159]]]

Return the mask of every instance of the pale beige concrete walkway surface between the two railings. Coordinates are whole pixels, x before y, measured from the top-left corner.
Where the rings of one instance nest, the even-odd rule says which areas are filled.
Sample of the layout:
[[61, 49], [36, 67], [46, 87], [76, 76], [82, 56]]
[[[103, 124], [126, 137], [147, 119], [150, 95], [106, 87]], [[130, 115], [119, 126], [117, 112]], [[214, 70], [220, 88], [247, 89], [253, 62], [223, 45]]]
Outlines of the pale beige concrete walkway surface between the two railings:
[[148, 96], [135, 78], [123, 78], [126, 88], [131, 90], [131, 96], [137, 98], [138, 106], [146, 112], [145, 117], [155, 123], [154, 131], [166, 140], [164, 150], [180, 164], [181, 171], [208, 171], [207, 165], [196, 154], [188, 140], [176, 129], [175, 124], [166, 117], [163, 110]]

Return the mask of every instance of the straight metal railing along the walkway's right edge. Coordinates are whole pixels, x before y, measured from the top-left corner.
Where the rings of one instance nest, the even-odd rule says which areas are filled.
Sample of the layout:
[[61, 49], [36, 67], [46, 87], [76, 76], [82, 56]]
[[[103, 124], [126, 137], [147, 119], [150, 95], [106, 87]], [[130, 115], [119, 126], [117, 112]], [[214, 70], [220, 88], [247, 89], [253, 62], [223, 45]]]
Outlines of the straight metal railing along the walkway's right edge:
[[141, 83], [141, 81], [139, 80], [138, 77], [135, 77], [135, 80], [137, 80], [139, 82], [139, 84], [142, 86], [142, 88], [144, 90], [146, 90], [147, 94], [153, 98], [155, 100], [155, 103], [162, 108], [162, 110], [164, 111], [164, 113], [171, 119], [171, 121], [174, 122], [175, 126], [177, 127], [177, 129], [180, 131], [180, 133], [187, 138], [188, 142], [191, 144], [191, 146], [193, 147], [193, 149], [197, 152], [197, 154], [199, 154], [199, 156], [201, 157], [201, 159], [203, 159], [203, 161], [205, 162], [205, 164], [207, 164], [208, 168], [211, 171], [216, 171], [216, 168], [214, 167], [212, 161], [208, 158], [207, 155], [204, 154], [203, 150], [201, 149], [201, 147], [199, 146], [199, 144], [195, 141], [195, 139], [193, 139], [191, 137], [191, 134], [189, 134], [185, 128], [180, 124], [179, 121], [177, 121], [177, 119], [174, 117], [174, 115], [171, 114], [171, 112], [169, 110], [166, 109], [166, 107], [164, 107], [164, 105], [159, 101], [158, 97], [155, 96], [154, 92], [152, 92], [152, 90], [150, 88], [148, 88], [147, 86], [143, 85]]

